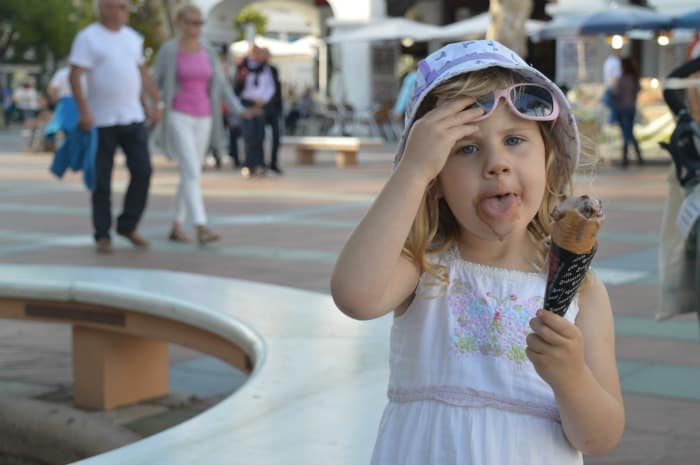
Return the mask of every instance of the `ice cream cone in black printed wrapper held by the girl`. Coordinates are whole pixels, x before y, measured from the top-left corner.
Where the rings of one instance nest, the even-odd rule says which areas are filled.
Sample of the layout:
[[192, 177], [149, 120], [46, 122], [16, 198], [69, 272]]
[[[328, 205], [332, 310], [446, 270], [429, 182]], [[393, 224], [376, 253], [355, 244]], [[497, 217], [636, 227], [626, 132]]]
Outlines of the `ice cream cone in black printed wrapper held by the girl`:
[[595, 256], [603, 211], [599, 200], [581, 196], [556, 207], [552, 218], [544, 308], [564, 316]]

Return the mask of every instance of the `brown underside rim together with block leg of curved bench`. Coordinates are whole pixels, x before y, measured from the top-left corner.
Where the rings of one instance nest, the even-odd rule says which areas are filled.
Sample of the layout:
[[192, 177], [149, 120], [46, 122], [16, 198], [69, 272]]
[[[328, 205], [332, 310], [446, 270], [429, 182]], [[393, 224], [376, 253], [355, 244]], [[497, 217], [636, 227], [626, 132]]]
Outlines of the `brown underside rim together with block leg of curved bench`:
[[118, 308], [3, 299], [0, 318], [69, 323], [73, 336], [73, 402], [110, 410], [169, 392], [168, 342], [214, 355], [244, 373], [250, 357], [209, 331], [182, 322]]

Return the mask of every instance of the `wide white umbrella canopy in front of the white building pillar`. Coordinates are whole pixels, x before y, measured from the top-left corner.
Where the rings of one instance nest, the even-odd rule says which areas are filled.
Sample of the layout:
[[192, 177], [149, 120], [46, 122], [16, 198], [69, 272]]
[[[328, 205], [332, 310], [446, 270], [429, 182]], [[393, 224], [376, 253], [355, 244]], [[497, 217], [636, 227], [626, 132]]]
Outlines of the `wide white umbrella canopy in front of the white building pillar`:
[[440, 27], [406, 18], [383, 18], [366, 25], [333, 32], [326, 37], [329, 44], [338, 42], [372, 42], [411, 38], [415, 41], [432, 39], [440, 32]]

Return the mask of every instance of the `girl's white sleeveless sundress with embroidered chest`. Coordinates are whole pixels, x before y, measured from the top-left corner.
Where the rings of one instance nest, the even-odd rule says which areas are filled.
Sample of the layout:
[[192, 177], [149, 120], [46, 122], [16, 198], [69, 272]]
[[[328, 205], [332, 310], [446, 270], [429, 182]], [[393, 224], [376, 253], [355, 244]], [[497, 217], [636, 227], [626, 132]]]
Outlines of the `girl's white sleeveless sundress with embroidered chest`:
[[[570, 465], [550, 386], [525, 354], [546, 276], [439, 259], [447, 288], [426, 275], [391, 330], [388, 397], [373, 465]], [[574, 321], [578, 303], [566, 318]]]

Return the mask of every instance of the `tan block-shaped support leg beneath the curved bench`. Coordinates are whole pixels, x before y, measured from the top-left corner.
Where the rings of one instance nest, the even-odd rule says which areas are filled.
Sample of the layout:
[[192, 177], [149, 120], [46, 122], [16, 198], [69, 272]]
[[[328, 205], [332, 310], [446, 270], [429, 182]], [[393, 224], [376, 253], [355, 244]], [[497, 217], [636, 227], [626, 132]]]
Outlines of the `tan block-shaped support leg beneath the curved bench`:
[[168, 343], [73, 325], [75, 405], [109, 410], [168, 394]]

